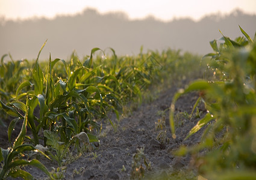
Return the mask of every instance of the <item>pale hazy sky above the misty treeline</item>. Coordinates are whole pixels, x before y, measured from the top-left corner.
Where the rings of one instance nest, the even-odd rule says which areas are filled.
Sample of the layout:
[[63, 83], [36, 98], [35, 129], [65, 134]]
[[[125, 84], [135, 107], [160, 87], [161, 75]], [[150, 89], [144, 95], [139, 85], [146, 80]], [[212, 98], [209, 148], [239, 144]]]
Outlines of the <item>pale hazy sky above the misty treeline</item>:
[[100, 13], [124, 11], [131, 19], [153, 15], [162, 20], [175, 17], [192, 17], [199, 20], [205, 14], [226, 14], [235, 8], [256, 14], [256, 0], [0, 0], [0, 17], [52, 18], [56, 14], [81, 13], [84, 8], [89, 7], [96, 8]]

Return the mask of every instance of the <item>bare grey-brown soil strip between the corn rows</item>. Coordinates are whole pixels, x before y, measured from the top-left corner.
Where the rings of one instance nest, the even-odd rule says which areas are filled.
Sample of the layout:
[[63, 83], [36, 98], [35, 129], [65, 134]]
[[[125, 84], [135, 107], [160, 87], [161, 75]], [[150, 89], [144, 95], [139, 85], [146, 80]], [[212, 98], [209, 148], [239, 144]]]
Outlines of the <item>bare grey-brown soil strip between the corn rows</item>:
[[[189, 120], [181, 117], [179, 122], [176, 122], [176, 139], [172, 139], [168, 109], [176, 91], [178, 91], [176, 87], [167, 88], [158, 95], [157, 99], [137, 107], [130, 115], [120, 120], [116, 131], [110, 125], [105, 125], [99, 136], [98, 148], [67, 163], [66, 170], [62, 171], [64, 179], [130, 179], [133, 154], [137, 152], [138, 148], [145, 148], [146, 158], [151, 162], [152, 170], [147, 170], [145, 167], [146, 179], [172, 179], [175, 175], [178, 178], [178, 173], [184, 170], [190, 172], [187, 179], [195, 178], [196, 169], [190, 166], [191, 157], [189, 155], [175, 157], [172, 154], [172, 151], [181, 145], [199, 143], [202, 134], [202, 131], [199, 131], [184, 140], [199, 119]], [[176, 113], [184, 111], [191, 113], [197, 98], [198, 92], [179, 98], [175, 104]], [[202, 104], [199, 105], [199, 109], [203, 113], [205, 112]], [[169, 142], [161, 143], [157, 140], [160, 130], [156, 130], [155, 122], [163, 118], [164, 115], [166, 116], [166, 136], [169, 138]], [[8, 145], [6, 130], [0, 131], [0, 138], [0, 146], [6, 148]], [[51, 167], [58, 167], [55, 161], [49, 161], [43, 157], [40, 158], [40, 161], [49, 171], [51, 171]], [[35, 167], [27, 166], [24, 169], [36, 179], [47, 178], [42, 171]]]

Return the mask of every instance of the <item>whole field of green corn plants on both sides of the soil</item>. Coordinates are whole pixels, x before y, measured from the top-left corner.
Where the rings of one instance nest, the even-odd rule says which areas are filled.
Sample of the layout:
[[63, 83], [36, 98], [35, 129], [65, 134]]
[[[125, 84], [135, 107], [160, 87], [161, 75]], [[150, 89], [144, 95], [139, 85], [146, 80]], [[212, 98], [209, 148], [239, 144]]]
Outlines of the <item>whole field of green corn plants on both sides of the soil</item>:
[[[147, 89], [182, 82], [185, 77], [197, 80], [180, 89], [170, 102], [172, 138], [176, 139], [175, 103], [192, 91], [200, 94], [192, 114], [199, 102], [207, 113], [186, 139], [202, 128], [204, 135], [199, 144], [181, 146], [172, 154], [192, 154], [198, 176], [255, 179], [256, 34], [252, 39], [239, 28], [242, 37], [231, 40], [222, 34], [220, 40], [210, 42], [213, 53], [203, 57], [172, 49], [148, 53], [141, 49], [137, 56], [119, 57], [114, 49], [93, 48], [82, 59], [73, 52], [68, 60], [51, 59], [50, 54], [48, 61], [39, 61], [47, 40], [35, 60], [14, 61], [10, 54], [3, 55], [0, 124], [7, 127], [9, 147], [0, 151], [0, 179], [33, 179], [22, 166], [35, 166], [56, 179], [40, 160], [23, 157], [41, 154], [61, 167], [67, 152], [93, 151], [100, 141], [102, 119], [115, 130], [129, 104], [143, 103]], [[10, 61], [5, 61], [7, 56]], [[14, 130], [19, 130], [17, 137]]]

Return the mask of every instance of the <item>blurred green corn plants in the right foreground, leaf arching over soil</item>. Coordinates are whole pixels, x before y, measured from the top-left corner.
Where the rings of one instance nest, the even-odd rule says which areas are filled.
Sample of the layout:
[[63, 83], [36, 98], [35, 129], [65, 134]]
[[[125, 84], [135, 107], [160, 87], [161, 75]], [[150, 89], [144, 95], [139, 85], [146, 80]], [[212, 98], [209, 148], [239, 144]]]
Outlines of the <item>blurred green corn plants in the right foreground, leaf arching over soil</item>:
[[[214, 53], [208, 69], [209, 80], [197, 80], [177, 92], [170, 106], [170, 127], [176, 137], [173, 116], [175, 101], [183, 94], [200, 91], [207, 114], [190, 130], [186, 139], [205, 127], [202, 141], [195, 147], [182, 147], [178, 154], [208, 149], [204, 156], [196, 155], [200, 172], [225, 170], [255, 170], [255, 62], [256, 44], [240, 27], [245, 37], [236, 40], [223, 35], [220, 45], [211, 41]], [[206, 164], [204, 166], [204, 164]], [[252, 173], [250, 173], [252, 174]], [[232, 176], [229, 176], [232, 177]], [[245, 176], [244, 176], [245, 177]], [[254, 176], [255, 178], [255, 176]]]

